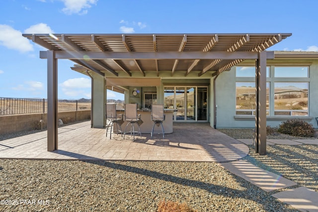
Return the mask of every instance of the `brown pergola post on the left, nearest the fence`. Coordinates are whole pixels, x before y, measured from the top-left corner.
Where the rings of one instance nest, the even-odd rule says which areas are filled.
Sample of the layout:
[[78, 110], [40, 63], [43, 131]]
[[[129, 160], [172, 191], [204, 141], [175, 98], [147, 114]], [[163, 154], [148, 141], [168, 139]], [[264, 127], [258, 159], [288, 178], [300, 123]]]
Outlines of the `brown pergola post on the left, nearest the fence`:
[[47, 51], [48, 82], [48, 151], [58, 149], [58, 60], [54, 51]]

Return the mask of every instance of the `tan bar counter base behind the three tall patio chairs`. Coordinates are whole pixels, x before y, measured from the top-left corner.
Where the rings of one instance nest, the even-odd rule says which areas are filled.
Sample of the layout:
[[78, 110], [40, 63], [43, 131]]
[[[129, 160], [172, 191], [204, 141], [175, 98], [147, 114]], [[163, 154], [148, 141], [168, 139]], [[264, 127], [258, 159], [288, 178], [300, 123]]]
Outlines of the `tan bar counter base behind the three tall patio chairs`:
[[[124, 110], [116, 110], [116, 112], [117, 114], [123, 114], [123, 119], [125, 120]], [[173, 133], [173, 112], [174, 110], [170, 110], [170, 109], [164, 110], [165, 120], [162, 122], [162, 125], [164, 128], [164, 134]], [[144, 122], [143, 124], [139, 126], [141, 133], [150, 134], [154, 126], [154, 122], [151, 120], [151, 109], [138, 109], [137, 114], [141, 115], [141, 120], [143, 120]], [[123, 131], [125, 130], [126, 125], [127, 125], [126, 121], [121, 125], [121, 128]], [[115, 126], [116, 125], [114, 125], [114, 127]], [[130, 128], [130, 126], [128, 126], [128, 128]], [[160, 125], [155, 126], [154, 132], [161, 132], [161, 126]]]

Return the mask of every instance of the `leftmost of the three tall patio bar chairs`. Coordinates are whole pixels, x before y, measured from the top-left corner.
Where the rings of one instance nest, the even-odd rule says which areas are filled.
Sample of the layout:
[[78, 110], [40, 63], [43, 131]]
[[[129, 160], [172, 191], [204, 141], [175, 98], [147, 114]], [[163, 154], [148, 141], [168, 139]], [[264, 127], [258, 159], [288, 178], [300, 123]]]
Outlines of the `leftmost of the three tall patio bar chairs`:
[[[116, 104], [114, 103], [106, 103], [106, 137], [107, 133], [109, 132], [110, 139], [111, 134], [114, 133], [114, 124], [116, 124], [116, 133], [121, 134], [121, 137], [123, 137], [123, 131], [121, 129], [121, 124], [123, 124], [123, 114], [116, 114]], [[109, 129], [110, 128], [110, 129]], [[120, 130], [119, 130], [120, 129]]]

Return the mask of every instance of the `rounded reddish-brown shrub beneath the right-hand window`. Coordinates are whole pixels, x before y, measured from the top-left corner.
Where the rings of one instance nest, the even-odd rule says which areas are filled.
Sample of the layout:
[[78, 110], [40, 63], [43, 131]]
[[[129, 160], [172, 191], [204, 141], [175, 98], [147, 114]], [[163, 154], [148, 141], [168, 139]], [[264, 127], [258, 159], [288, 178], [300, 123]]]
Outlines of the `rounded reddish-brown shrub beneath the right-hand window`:
[[278, 132], [296, 137], [315, 137], [316, 134], [313, 125], [299, 119], [282, 122]]

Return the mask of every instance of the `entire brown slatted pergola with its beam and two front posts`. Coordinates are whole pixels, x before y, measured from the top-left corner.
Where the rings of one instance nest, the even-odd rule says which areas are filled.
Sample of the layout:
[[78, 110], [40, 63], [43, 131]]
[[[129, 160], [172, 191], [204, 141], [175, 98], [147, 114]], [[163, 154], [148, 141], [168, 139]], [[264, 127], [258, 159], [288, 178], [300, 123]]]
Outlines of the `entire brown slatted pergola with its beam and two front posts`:
[[[171, 76], [215, 78], [244, 60], [255, 60], [256, 152], [266, 154], [267, 48], [291, 33], [262, 34], [23, 34], [48, 49], [48, 151], [58, 149], [57, 62], [68, 59], [82, 73], [136, 80]], [[93, 88], [92, 88], [93, 89]], [[120, 90], [120, 89], [119, 89]]]

